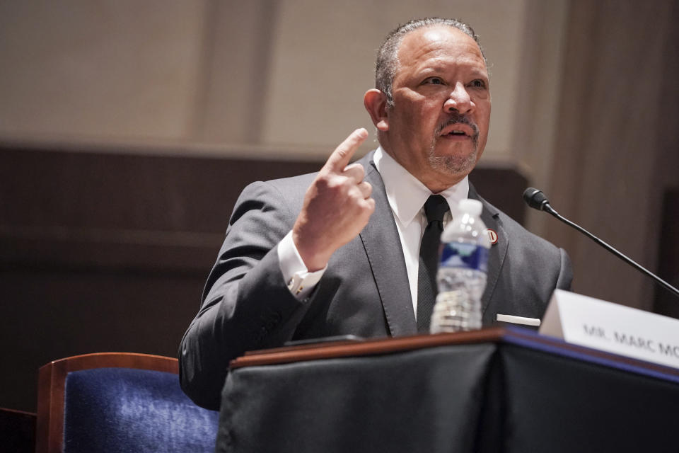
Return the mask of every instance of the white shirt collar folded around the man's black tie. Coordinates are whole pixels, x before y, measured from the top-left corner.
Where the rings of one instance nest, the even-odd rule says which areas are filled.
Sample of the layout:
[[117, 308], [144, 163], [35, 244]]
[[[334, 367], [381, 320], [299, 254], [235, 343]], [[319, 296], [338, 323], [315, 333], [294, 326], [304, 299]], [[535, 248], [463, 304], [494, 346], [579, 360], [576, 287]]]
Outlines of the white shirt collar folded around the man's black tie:
[[[407, 226], [422, 210], [424, 202], [432, 195], [420, 180], [412, 176], [405, 168], [393, 159], [382, 147], [378, 147], [373, 156], [377, 171], [382, 176], [387, 200], [399, 221]], [[460, 200], [469, 195], [469, 179], [467, 176], [459, 183], [440, 193], [446, 198], [451, 212], [455, 212]]]

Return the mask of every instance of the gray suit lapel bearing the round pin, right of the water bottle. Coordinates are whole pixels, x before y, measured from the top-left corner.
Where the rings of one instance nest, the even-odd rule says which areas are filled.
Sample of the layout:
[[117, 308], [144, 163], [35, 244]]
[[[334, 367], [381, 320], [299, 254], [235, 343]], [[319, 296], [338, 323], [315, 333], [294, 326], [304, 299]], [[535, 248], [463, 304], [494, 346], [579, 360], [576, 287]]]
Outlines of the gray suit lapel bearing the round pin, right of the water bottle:
[[490, 228], [497, 233], [497, 243], [490, 246], [490, 251], [488, 253], [488, 274], [486, 280], [486, 289], [481, 299], [482, 311], [485, 313], [500, 277], [500, 270], [502, 269], [502, 264], [504, 263], [504, 258], [507, 254], [507, 248], [509, 247], [509, 237], [506, 235], [504, 228], [502, 228], [502, 222], [499, 218], [499, 211], [495, 209], [495, 207], [489, 202], [480, 197], [476, 193], [476, 189], [471, 183], [469, 185], [469, 197], [479, 200], [483, 203], [481, 220], [486, 225], [486, 228]]

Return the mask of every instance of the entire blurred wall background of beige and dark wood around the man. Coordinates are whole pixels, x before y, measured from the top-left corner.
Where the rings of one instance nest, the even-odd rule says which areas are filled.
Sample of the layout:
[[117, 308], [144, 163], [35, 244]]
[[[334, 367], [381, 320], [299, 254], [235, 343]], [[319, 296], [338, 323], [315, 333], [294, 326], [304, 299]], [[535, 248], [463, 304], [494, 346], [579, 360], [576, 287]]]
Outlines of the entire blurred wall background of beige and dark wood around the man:
[[678, 0], [0, 0], [0, 406], [35, 411], [50, 360], [175, 356], [240, 190], [374, 131], [376, 50], [424, 16], [489, 61], [479, 192], [567, 250], [575, 292], [679, 317], [521, 200], [679, 285]]

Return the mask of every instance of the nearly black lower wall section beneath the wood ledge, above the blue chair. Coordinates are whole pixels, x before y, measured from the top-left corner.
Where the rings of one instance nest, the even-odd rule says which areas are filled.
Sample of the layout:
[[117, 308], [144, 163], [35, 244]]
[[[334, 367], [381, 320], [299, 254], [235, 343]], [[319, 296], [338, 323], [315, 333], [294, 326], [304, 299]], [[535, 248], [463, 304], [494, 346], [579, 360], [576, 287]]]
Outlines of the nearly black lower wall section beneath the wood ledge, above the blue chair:
[[35, 411], [37, 369], [91, 352], [177, 357], [205, 277], [47, 269], [0, 272], [0, 406]]

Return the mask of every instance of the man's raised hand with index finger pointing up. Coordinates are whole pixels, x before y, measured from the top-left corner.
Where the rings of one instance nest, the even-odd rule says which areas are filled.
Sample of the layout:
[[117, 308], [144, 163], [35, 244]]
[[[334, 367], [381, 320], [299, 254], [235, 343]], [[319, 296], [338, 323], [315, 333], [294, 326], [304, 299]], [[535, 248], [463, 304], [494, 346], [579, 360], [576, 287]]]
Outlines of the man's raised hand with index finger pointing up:
[[306, 190], [292, 239], [309, 271], [323, 269], [337, 248], [361, 232], [375, 210], [363, 166], [348, 165], [367, 137], [362, 127], [349, 134]]

